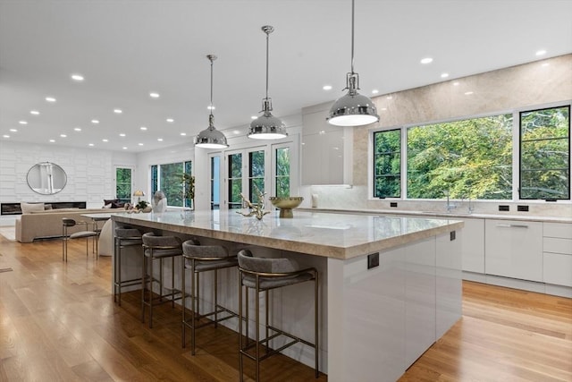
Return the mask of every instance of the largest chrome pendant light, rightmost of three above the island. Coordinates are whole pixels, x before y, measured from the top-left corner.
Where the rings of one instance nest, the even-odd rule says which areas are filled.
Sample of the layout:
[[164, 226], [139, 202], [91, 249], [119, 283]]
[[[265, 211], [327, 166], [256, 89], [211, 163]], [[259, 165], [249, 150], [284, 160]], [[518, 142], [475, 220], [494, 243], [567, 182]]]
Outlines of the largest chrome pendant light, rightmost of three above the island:
[[351, 0], [351, 72], [346, 74], [348, 94], [338, 98], [326, 118], [336, 126], [363, 126], [379, 121], [377, 109], [371, 99], [357, 93], [359, 75], [354, 72], [354, 0]]

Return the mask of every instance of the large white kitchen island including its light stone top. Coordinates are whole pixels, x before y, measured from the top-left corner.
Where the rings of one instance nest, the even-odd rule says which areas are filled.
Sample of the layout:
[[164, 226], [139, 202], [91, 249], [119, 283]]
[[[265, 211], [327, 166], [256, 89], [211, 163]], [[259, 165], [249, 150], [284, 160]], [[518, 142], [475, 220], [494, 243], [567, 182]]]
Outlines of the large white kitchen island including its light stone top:
[[[274, 211], [259, 221], [232, 210], [112, 219], [114, 225], [198, 237], [232, 250], [248, 247], [255, 256], [291, 257], [316, 267], [321, 274], [320, 369], [330, 381], [394, 381], [461, 316], [463, 223], [457, 220], [303, 211], [279, 218]], [[374, 262], [377, 253], [379, 265], [368, 269], [368, 259]], [[140, 262], [125, 261], [123, 276], [140, 274]], [[220, 280], [223, 305], [237, 309], [236, 270]], [[273, 323], [312, 338], [307, 285], [276, 294]], [[236, 323], [229, 326], [236, 329]], [[286, 354], [313, 366], [313, 350], [305, 345]]]

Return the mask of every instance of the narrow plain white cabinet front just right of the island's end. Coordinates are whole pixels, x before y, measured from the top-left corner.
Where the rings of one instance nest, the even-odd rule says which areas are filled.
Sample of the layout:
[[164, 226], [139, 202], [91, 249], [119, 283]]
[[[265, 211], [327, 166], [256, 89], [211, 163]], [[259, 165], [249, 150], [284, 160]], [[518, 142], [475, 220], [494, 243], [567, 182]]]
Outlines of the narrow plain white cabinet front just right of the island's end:
[[458, 219], [463, 227], [463, 270], [484, 273], [484, 219]]

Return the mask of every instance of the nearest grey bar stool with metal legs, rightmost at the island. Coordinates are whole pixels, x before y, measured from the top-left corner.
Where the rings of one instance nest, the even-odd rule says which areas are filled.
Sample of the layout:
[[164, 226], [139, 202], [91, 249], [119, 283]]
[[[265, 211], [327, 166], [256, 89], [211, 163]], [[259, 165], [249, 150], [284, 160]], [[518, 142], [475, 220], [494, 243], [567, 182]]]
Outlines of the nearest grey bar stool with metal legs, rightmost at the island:
[[[314, 267], [299, 269], [296, 261], [292, 259], [263, 259], [252, 256], [250, 250], [240, 250], [238, 254], [239, 260], [239, 342], [240, 342], [240, 381], [243, 380], [243, 361], [242, 357], [246, 356], [256, 363], [256, 380], [260, 380], [260, 361], [282, 352], [282, 350], [293, 344], [306, 344], [314, 348], [315, 352], [315, 378], [319, 376], [318, 370], [318, 272]], [[314, 281], [314, 344], [299, 338], [296, 335], [286, 333], [283, 330], [273, 327], [268, 322], [268, 291], [282, 288], [284, 286]], [[242, 287], [246, 287], [246, 340], [242, 338]], [[248, 289], [255, 291], [255, 339], [251, 342], [248, 337]], [[260, 299], [259, 293], [265, 293], [265, 338], [260, 339]], [[273, 332], [271, 335], [270, 332]], [[270, 348], [270, 341], [279, 335], [285, 335], [290, 338], [290, 342], [283, 344], [278, 349]], [[244, 342], [246, 341], [246, 344]], [[265, 354], [260, 353], [261, 345], [265, 346]], [[253, 352], [250, 349], [255, 348]]]

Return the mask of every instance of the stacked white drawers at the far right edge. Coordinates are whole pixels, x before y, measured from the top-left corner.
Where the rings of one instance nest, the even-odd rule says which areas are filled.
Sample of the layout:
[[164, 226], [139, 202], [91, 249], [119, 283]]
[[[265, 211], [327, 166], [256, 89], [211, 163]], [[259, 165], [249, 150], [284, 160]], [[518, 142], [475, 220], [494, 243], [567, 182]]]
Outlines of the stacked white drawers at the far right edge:
[[544, 223], [543, 281], [572, 286], [572, 225]]

